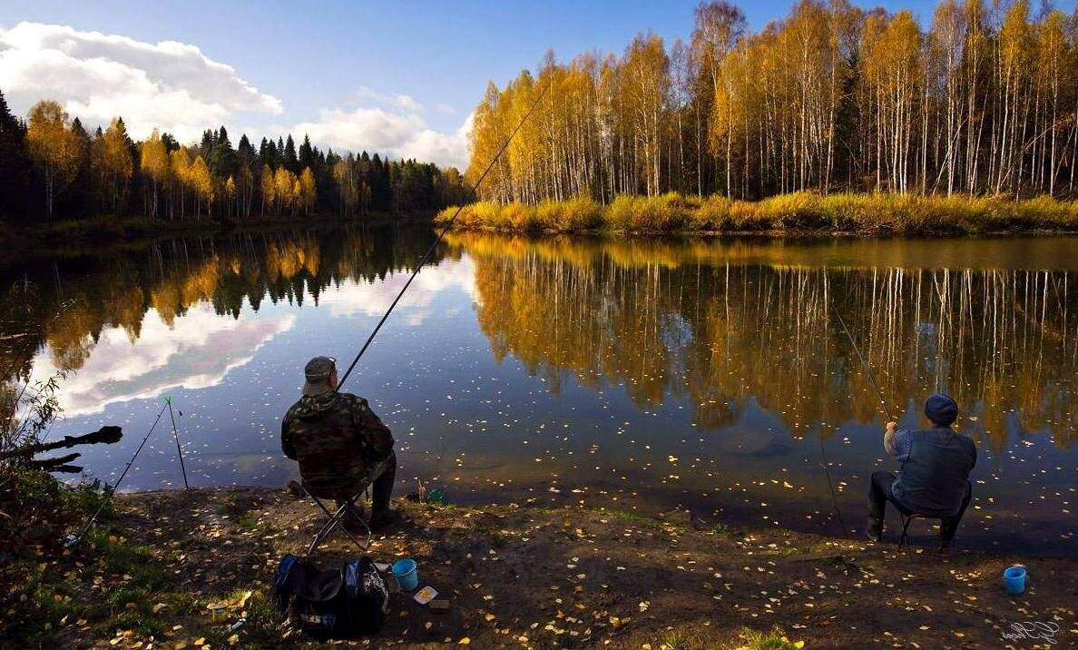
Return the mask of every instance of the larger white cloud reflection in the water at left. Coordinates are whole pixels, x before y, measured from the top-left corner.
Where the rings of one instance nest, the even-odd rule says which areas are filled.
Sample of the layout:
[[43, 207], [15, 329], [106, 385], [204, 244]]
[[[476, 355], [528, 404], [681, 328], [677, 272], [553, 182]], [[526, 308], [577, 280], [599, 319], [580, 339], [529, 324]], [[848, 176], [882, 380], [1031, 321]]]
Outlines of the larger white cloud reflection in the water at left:
[[[294, 314], [222, 318], [209, 304], [192, 307], [172, 327], [147, 312], [137, 341], [123, 328], [101, 332], [86, 362], [60, 386], [67, 416], [98, 413], [107, 405], [156, 397], [177, 387], [207, 388], [244, 365], [274, 336], [291, 329]], [[56, 372], [51, 355], [34, 360], [38, 376]]]

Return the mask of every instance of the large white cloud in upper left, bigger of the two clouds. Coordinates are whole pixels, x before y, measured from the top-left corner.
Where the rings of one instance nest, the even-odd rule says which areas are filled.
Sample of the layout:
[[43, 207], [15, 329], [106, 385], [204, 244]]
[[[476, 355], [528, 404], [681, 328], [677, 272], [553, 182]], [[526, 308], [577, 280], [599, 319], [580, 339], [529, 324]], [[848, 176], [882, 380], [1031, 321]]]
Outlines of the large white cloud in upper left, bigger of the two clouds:
[[0, 26], [0, 88], [17, 112], [56, 99], [87, 126], [123, 116], [135, 138], [160, 127], [191, 140], [237, 112], [282, 110], [195, 45], [41, 23]]

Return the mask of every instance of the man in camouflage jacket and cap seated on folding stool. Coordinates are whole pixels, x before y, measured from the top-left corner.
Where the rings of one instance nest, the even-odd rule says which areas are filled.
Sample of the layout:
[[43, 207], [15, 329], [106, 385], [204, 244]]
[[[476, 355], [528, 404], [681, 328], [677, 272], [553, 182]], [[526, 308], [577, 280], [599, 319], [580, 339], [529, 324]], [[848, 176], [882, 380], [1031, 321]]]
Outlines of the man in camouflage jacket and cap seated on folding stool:
[[300, 462], [310, 494], [342, 503], [372, 485], [371, 527], [395, 518], [389, 497], [397, 474], [393, 437], [363, 398], [337, 392], [336, 361], [315, 357], [304, 368], [303, 397], [285, 414], [280, 446]]

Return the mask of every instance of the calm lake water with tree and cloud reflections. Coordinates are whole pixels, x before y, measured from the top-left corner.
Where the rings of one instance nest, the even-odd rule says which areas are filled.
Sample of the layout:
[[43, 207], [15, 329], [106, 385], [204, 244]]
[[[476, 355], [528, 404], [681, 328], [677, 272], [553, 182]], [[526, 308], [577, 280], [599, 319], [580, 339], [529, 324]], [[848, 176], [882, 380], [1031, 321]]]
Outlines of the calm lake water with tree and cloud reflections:
[[[0, 370], [68, 372], [51, 438], [124, 427], [85, 451], [94, 476], [119, 475], [171, 396], [193, 484], [281, 486], [303, 363], [350, 359], [431, 239], [236, 235], [26, 262], [3, 277]], [[895, 465], [833, 305], [903, 424], [935, 390], [962, 404], [980, 454], [962, 544], [1075, 555], [1076, 279], [1073, 237], [458, 234], [347, 388], [397, 435], [399, 493], [423, 478], [458, 502], [687, 507], [840, 535]], [[125, 488], [182, 486], [179, 471], [162, 425]]]

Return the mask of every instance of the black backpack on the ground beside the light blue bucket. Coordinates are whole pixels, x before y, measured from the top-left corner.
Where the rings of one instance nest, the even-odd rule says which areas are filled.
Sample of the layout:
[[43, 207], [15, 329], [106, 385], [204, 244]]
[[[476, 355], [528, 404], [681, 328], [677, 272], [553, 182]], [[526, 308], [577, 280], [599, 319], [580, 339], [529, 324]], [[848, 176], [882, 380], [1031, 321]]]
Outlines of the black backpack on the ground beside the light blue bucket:
[[277, 567], [272, 597], [294, 625], [319, 639], [374, 634], [389, 611], [389, 586], [367, 555], [321, 571], [289, 553]]

